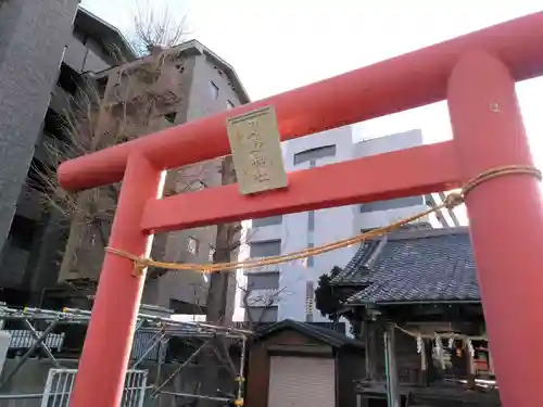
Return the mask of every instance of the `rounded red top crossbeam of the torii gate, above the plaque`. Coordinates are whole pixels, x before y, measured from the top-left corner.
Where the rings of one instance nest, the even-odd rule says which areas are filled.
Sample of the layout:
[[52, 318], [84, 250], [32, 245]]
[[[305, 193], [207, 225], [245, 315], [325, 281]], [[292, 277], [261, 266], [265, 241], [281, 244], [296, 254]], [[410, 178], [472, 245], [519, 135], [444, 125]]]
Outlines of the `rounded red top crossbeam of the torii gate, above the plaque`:
[[72, 160], [59, 177], [68, 190], [118, 182], [134, 151], [163, 169], [227, 155], [226, 118], [267, 105], [290, 140], [440, 102], [460, 55], [473, 48], [498, 56], [517, 81], [541, 76], [542, 37], [543, 13], [532, 14]]

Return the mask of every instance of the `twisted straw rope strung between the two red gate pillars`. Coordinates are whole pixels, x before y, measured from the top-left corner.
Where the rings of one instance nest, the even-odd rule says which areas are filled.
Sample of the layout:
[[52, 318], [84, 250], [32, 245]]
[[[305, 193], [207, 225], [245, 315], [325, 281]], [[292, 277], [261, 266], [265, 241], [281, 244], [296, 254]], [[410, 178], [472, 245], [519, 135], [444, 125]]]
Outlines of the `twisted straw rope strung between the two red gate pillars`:
[[229, 263], [217, 263], [217, 264], [186, 264], [186, 263], [167, 263], [167, 262], [156, 262], [152, 258], [140, 257], [132, 253], [118, 250], [115, 247], [105, 247], [108, 253], [122, 256], [128, 258], [134, 262], [135, 265], [135, 274], [141, 275], [147, 267], [156, 267], [162, 269], [169, 270], [192, 270], [204, 274], [210, 272], [219, 272], [219, 271], [232, 271], [236, 269], [251, 269], [269, 265], [277, 265], [282, 263], [294, 262], [298, 259], [307, 258], [310, 256], [319, 255], [323, 253], [332, 252], [339, 249], [348, 247], [352, 244], [363, 242], [367, 239], [374, 239], [379, 236], [390, 233], [402, 226], [411, 224], [415, 220], [418, 220], [425, 216], [428, 216], [432, 213], [441, 211], [443, 208], [453, 209], [454, 207], [464, 203], [466, 195], [470, 193], [473, 189], [480, 186], [483, 182], [492, 180], [497, 177], [503, 177], [507, 175], [531, 175], [538, 178], [541, 181], [541, 171], [538, 168], [534, 168], [529, 165], [506, 165], [496, 168], [492, 168], [479, 174], [477, 177], [467, 181], [459, 192], [450, 193], [444, 202], [440, 205], [431, 207], [427, 211], [424, 211], [419, 214], [409, 216], [405, 219], [397, 220], [389, 226], [380, 227], [377, 229], [372, 229], [370, 231], [356, 234], [349, 239], [343, 239], [333, 243], [323, 244], [317, 247], [308, 247], [303, 251], [292, 252], [288, 254], [281, 254], [277, 256], [269, 256], [265, 258], [258, 259], [248, 259], [242, 262], [229, 262]]

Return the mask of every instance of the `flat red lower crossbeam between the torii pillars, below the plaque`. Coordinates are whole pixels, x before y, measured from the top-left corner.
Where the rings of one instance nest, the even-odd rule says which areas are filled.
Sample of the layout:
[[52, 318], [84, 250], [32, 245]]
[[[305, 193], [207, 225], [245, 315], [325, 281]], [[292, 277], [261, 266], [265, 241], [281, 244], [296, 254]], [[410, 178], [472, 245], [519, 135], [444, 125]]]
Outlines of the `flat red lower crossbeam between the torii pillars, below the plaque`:
[[149, 201], [147, 231], [189, 229], [233, 220], [446, 191], [459, 187], [452, 141], [289, 174], [289, 187], [253, 196], [237, 185]]

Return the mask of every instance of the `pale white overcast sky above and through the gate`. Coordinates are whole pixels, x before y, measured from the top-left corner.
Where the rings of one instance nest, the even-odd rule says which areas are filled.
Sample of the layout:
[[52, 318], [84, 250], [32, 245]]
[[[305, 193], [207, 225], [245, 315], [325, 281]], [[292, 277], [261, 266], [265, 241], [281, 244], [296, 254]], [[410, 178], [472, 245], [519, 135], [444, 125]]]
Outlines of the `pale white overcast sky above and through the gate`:
[[[541, 0], [84, 0], [83, 5], [128, 38], [138, 10], [186, 17], [186, 39], [198, 39], [230, 63], [252, 100], [543, 10]], [[517, 91], [541, 168], [543, 79], [518, 84]], [[413, 128], [422, 130], [425, 142], [452, 137], [444, 102], [354, 128], [357, 140]], [[458, 215], [465, 218], [463, 208]]]

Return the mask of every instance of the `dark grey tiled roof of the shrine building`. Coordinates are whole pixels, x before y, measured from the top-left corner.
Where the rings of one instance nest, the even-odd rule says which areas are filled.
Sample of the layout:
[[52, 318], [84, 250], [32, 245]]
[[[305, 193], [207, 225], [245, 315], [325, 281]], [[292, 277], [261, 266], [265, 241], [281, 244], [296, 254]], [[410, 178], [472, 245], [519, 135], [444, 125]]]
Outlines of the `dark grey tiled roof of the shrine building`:
[[480, 301], [466, 228], [408, 230], [366, 242], [332, 284], [361, 287], [351, 304]]

